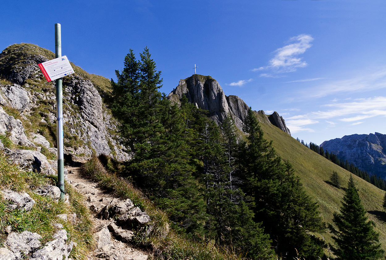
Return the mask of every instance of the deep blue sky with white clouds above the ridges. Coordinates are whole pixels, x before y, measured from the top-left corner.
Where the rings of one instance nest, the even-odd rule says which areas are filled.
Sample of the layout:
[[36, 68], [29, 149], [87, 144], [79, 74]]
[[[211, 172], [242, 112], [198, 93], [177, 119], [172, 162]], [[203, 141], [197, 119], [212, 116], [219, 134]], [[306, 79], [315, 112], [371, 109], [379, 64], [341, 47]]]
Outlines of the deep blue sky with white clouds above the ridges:
[[161, 92], [194, 73], [225, 95], [283, 116], [294, 138], [320, 144], [384, 133], [384, 0], [4, 1], [0, 49], [33, 43], [115, 79], [129, 49], [147, 46]]

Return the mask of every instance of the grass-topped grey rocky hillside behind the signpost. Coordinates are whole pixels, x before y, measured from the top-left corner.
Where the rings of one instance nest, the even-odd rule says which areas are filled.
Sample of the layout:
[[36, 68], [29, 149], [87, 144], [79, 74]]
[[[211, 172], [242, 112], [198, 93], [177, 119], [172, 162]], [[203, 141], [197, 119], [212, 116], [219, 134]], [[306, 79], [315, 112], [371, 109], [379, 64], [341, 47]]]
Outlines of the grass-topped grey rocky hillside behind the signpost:
[[[56, 145], [56, 90], [47, 82], [38, 63], [54, 53], [36, 45], [11, 45], [0, 54], [0, 105], [20, 112], [15, 119], [0, 107], [0, 134], [19, 145]], [[74, 66], [77, 73], [63, 78], [64, 153], [75, 157], [110, 155], [128, 160], [117, 140], [117, 125], [89, 74]], [[27, 125], [35, 131], [25, 135]], [[42, 138], [43, 137], [43, 138]], [[44, 139], [45, 138], [45, 139]], [[32, 142], [31, 142], [32, 141]]]

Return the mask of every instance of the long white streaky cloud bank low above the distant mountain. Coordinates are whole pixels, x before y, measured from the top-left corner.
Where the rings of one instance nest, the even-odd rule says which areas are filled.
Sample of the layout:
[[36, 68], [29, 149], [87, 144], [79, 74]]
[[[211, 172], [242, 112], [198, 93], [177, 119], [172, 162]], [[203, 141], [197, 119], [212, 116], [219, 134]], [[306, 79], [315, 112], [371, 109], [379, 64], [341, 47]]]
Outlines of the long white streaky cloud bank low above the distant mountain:
[[[325, 120], [330, 125], [336, 122], [352, 123], [358, 125], [364, 119], [386, 116], [386, 97], [360, 98], [347, 103], [331, 103], [324, 105], [330, 109], [296, 115], [286, 119], [286, 125], [292, 133], [308, 131], [313, 132], [309, 125]], [[329, 120], [329, 121], [327, 121]]]

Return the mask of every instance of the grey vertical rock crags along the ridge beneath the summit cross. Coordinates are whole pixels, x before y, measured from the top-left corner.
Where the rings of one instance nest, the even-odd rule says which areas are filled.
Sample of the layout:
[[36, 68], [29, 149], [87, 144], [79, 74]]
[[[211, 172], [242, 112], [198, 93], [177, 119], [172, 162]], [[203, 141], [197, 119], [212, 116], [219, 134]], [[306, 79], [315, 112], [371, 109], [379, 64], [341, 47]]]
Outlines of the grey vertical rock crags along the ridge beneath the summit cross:
[[[242, 131], [249, 107], [237, 96], [225, 96], [217, 80], [210, 76], [198, 74], [194, 74], [185, 80], [181, 79], [178, 86], [168, 95], [168, 98], [173, 103], [181, 103], [184, 96], [188, 98], [190, 103], [195, 104], [196, 107], [208, 110], [209, 117], [218, 125], [223, 122], [227, 115], [230, 115], [236, 127]], [[262, 110], [256, 113], [263, 115], [263, 119], [258, 118], [258, 120], [263, 121], [262, 123], [272, 123], [291, 135], [286, 127], [284, 118], [280, 117], [277, 112], [274, 112], [273, 115], [267, 118]]]

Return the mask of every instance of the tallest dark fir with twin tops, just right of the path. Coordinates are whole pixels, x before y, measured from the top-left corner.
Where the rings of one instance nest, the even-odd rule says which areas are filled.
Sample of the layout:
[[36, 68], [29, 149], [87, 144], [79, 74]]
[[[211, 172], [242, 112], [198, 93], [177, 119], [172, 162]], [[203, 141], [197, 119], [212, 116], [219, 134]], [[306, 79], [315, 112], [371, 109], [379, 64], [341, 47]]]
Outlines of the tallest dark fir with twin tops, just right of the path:
[[164, 209], [173, 223], [192, 237], [199, 238], [205, 222], [205, 203], [190, 163], [184, 118], [177, 105], [171, 105], [161, 87], [149, 49], [136, 60], [132, 50], [124, 69], [113, 80], [112, 111], [120, 120], [122, 143], [134, 153], [126, 163], [124, 177], [130, 175], [137, 186]]

